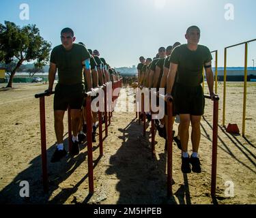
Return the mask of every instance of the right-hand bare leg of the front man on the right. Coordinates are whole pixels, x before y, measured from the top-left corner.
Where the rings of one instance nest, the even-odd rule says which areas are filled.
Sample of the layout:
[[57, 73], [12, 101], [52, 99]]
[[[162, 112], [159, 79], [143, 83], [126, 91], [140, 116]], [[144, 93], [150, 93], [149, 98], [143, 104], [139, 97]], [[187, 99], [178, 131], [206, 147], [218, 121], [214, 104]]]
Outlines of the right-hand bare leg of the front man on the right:
[[191, 141], [193, 146], [193, 152], [196, 152], [196, 153], [198, 152], [200, 138], [201, 138], [200, 121], [201, 121], [201, 116], [191, 116], [191, 125], [192, 125]]

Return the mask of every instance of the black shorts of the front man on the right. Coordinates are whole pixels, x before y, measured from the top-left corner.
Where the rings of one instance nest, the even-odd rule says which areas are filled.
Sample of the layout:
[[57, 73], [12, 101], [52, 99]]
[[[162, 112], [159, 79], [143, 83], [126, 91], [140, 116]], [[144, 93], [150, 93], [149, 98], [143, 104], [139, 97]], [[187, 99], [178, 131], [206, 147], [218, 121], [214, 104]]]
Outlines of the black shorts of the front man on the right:
[[203, 88], [186, 87], [176, 83], [173, 91], [173, 103], [175, 114], [191, 114], [202, 116], [205, 107]]

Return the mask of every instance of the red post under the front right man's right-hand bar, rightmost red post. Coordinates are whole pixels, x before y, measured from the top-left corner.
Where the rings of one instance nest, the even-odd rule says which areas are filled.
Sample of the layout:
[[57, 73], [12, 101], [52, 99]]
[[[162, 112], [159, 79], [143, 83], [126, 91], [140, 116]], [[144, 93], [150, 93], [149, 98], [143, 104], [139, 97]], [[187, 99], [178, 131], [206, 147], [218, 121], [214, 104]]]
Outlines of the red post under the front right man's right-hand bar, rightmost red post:
[[217, 170], [217, 148], [218, 148], [218, 99], [214, 99], [214, 115], [212, 128], [212, 184], [211, 195], [216, 194], [216, 170]]

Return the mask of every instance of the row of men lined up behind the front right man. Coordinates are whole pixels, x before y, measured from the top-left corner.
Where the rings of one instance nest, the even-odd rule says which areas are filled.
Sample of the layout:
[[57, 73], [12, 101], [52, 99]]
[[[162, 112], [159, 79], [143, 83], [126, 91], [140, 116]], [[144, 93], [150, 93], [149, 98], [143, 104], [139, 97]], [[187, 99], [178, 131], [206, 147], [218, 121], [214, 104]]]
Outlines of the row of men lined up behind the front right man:
[[[158, 49], [158, 53], [156, 57], [154, 57], [153, 61], [151, 58], [147, 58], [145, 60], [144, 57], [140, 57], [138, 69], [138, 86], [147, 87], [147, 88], [156, 88], [158, 91], [159, 88], [164, 88], [165, 93], [167, 90], [167, 76], [169, 73], [170, 67], [170, 57], [171, 52], [175, 47], [179, 46], [180, 42], [175, 42], [173, 46], [168, 46], [166, 49], [161, 47]], [[158, 101], [157, 101], [158, 102]], [[175, 122], [180, 123], [180, 116], [175, 114]], [[147, 119], [151, 120], [151, 113], [146, 112]], [[142, 114], [140, 119], [142, 119]], [[174, 122], [174, 119], [173, 119]], [[160, 121], [156, 120], [156, 129], [158, 130], [158, 134], [160, 137], [165, 138], [165, 151], [167, 151], [167, 128], [165, 127], [165, 123], [167, 123], [167, 104], [165, 104], [165, 117]], [[177, 136], [173, 137], [173, 140], [176, 142], [177, 147], [181, 150], [181, 142], [180, 142], [180, 125], [178, 127]], [[173, 131], [173, 136], [175, 131]]]

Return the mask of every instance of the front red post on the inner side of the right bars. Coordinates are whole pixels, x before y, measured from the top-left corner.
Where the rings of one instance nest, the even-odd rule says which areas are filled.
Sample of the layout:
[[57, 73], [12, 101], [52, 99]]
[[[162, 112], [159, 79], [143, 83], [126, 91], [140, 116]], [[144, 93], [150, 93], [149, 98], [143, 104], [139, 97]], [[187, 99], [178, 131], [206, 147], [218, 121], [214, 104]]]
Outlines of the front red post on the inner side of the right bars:
[[167, 102], [168, 127], [167, 127], [167, 196], [173, 195], [173, 104]]

